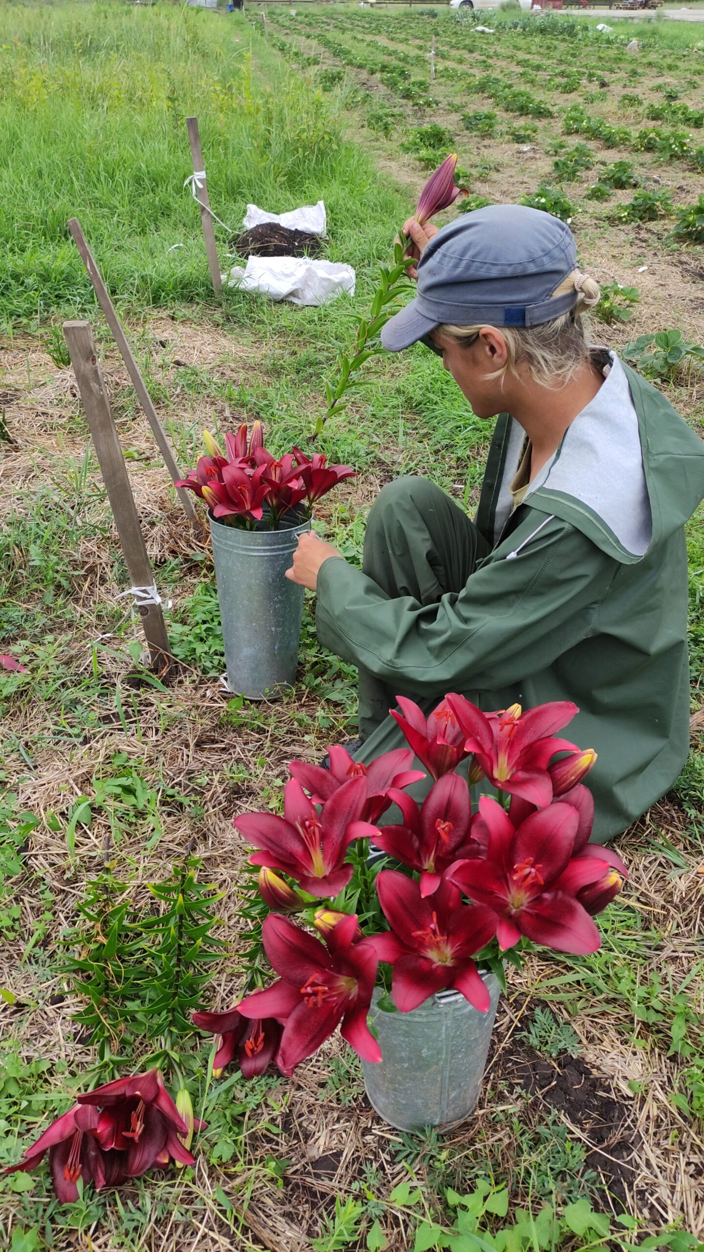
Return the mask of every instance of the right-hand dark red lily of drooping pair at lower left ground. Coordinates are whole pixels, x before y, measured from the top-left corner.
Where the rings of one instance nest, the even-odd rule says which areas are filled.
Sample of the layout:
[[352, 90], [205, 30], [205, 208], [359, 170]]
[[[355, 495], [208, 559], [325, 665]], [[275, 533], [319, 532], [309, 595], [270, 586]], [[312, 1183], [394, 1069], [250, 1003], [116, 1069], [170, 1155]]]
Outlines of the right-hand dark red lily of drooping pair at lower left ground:
[[164, 1087], [159, 1069], [116, 1078], [76, 1097], [80, 1106], [98, 1107], [95, 1138], [105, 1151], [125, 1152], [125, 1172], [140, 1178], [152, 1166], [169, 1159], [192, 1166], [194, 1158], [179, 1139], [188, 1126]]

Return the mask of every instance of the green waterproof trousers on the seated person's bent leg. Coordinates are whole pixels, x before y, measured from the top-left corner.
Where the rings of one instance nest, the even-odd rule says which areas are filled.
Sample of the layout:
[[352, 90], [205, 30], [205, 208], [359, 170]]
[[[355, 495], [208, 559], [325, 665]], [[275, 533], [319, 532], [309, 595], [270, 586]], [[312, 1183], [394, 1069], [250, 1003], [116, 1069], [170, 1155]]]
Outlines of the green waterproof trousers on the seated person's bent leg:
[[[447, 591], [462, 591], [489, 551], [484, 535], [440, 487], [427, 478], [395, 478], [371, 510], [362, 571], [391, 600], [412, 596], [425, 607], [437, 603]], [[418, 701], [411, 689], [391, 687], [360, 667], [362, 742], [388, 719], [397, 695], [410, 696], [430, 711], [445, 692]]]

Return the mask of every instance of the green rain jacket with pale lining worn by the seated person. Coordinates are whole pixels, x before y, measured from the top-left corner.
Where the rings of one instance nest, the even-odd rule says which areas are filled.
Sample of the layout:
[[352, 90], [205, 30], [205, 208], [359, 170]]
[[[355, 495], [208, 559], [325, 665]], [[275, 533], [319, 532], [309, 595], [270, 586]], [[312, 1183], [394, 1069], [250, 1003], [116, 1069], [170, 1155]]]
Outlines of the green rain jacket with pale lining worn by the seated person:
[[[476, 517], [492, 548], [460, 592], [426, 607], [391, 600], [332, 557], [316, 618], [326, 647], [426, 705], [448, 691], [485, 710], [572, 700], [567, 735], [599, 754], [596, 843], [645, 813], [686, 759], [684, 523], [704, 496], [703, 441], [610, 359], [613, 383], [626, 388], [624, 422], [580, 426], [580, 414], [512, 513], [501, 497], [522, 432], [499, 417]], [[405, 744], [391, 717], [372, 737], [373, 755]]]

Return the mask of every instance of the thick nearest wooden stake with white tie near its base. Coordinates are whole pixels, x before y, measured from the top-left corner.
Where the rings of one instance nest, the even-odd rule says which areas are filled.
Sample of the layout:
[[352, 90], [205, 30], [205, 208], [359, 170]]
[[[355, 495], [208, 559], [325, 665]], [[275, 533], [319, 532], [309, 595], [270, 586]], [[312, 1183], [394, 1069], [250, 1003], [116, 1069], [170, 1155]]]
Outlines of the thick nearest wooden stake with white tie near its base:
[[[153, 587], [154, 573], [147, 556], [105, 379], [95, 354], [93, 332], [88, 322], [64, 322], [64, 336], [132, 585], [133, 587]], [[162, 606], [160, 603], [139, 603], [135, 600], [135, 607], [142, 617], [152, 666], [162, 677], [165, 677], [174, 661]]]

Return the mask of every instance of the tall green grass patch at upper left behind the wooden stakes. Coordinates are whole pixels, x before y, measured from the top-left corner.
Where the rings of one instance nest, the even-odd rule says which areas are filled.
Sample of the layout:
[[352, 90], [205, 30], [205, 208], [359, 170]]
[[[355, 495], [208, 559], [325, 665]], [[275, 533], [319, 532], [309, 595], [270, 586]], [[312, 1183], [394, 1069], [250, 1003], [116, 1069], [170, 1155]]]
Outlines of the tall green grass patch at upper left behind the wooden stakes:
[[[239, 228], [248, 202], [281, 212], [323, 198], [331, 259], [360, 265], [386, 252], [397, 194], [343, 139], [331, 99], [289, 73], [244, 18], [170, 5], [11, 5], [0, 8], [0, 48], [5, 326], [93, 307], [70, 217], [120, 302], [212, 294], [199, 212], [183, 187], [189, 114], [213, 208], [228, 225]], [[215, 230], [224, 245], [228, 234]]]

